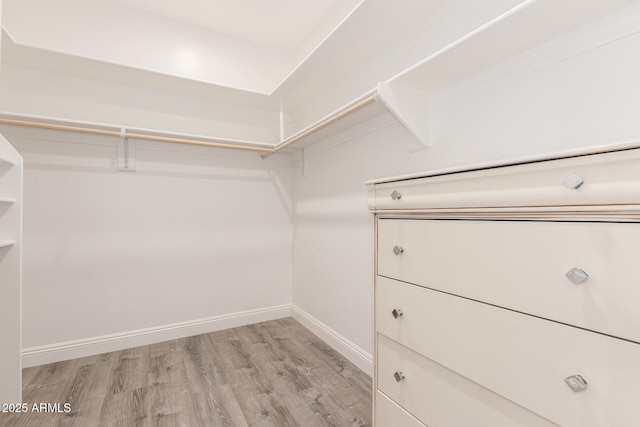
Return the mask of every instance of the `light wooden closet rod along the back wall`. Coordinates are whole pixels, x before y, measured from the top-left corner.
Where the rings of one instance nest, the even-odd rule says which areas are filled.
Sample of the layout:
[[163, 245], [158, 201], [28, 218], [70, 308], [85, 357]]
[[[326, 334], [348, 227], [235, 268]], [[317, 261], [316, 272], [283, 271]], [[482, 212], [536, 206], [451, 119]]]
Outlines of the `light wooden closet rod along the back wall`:
[[[90, 135], [115, 136], [118, 138], [122, 136], [120, 131], [96, 129], [96, 128], [89, 128], [89, 127], [81, 127], [81, 126], [57, 125], [53, 123], [43, 123], [43, 122], [36, 122], [31, 120], [14, 120], [14, 119], [0, 118], [0, 125], [59, 130], [59, 131], [66, 131], [66, 132], [85, 133]], [[250, 145], [243, 145], [239, 143], [228, 142], [228, 140], [224, 140], [224, 139], [217, 139], [217, 140], [225, 141], [225, 142], [213, 142], [213, 141], [200, 141], [197, 139], [188, 139], [188, 138], [176, 138], [176, 137], [170, 137], [170, 136], [148, 135], [148, 134], [133, 133], [133, 132], [125, 132], [124, 136], [127, 138], [140, 139], [145, 141], [159, 141], [159, 142], [171, 142], [176, 144], [202, 145], [205, 147], [230, 148], [234, 150], [256, 151], [260, 153], [271, 153], [273, 151], [273, 148], [252, 147]]]

